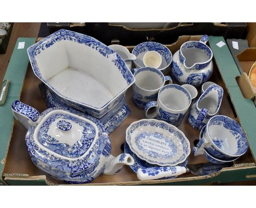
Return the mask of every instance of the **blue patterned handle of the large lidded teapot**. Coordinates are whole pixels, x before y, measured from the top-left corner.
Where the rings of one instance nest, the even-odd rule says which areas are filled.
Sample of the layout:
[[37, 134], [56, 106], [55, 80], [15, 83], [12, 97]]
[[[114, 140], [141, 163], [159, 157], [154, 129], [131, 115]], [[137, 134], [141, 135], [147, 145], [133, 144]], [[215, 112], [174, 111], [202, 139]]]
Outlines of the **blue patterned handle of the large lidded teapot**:
[[19, 100], [13, 102], [11, 110], [13, 111], [15, 119], [17, 119], [26, 129], [39, 123], [39, 112]]

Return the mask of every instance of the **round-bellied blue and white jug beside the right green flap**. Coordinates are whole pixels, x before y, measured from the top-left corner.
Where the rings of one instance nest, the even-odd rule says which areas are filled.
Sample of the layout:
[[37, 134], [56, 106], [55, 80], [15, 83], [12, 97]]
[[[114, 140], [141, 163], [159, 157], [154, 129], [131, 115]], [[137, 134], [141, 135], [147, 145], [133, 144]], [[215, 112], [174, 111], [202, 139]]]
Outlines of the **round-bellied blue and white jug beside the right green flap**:
[[180, 84], [201, 86], [212, 75], [213, 53], [206, 45], [208, 36], [203, 35], [200, 41], [188, 41], [173, 55], [172, 75]]

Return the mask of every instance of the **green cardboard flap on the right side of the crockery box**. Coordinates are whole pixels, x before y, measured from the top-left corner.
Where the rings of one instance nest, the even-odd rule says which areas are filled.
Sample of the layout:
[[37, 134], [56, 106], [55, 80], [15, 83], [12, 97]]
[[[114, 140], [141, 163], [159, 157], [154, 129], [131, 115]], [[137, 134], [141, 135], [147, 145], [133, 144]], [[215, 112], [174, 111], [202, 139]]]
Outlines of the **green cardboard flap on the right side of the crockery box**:
[[[245, 97], [243, 97], [242, 92], [236, 81], [236, 77], [241, 75], [240, 71], [236, 66], [235, 60], [232, 58], [232, 55], [229, 51], [228, 46], [224, 45], [222, 47], [219, 47], [216, 45], [220, 41], [223, 41], [225, 43], [224, 38], [221, 36], [209, 37], [209, 43], [212, 48], [214, 59], [216, 60], [220, 74], [222, 75], [223, 81], [226, 85], [226, 89], [229, 92], [232, 104], [235, 108], [238, 119], [240, 120], [241, 126], [243, 127], [243, 130], [245, 130], [247, 134], [249, 146], [250, 146], [254, 161], [256, 161], [255, 160], [255, 156], [256, 156], [255, 105], [252, 100], [245, 99]], [[251, 48], [248, 50], [254, 51], [254, 49], [251, 49]], [[248, 56], [253, 57], [252, 54], [249, 54], [248, 50], [245, 50], [242, 53], [243, 54], [246, 53], [248, 54]]]

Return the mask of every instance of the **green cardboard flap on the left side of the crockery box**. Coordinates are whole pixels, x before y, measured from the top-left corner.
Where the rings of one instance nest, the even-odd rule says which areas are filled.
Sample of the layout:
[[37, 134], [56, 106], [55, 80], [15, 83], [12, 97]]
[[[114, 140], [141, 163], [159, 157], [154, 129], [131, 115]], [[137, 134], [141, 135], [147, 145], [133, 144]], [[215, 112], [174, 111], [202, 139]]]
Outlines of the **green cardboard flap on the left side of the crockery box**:
[[[13, 131], [14, 117], [11, 112], [11, 103], [20, 99], [21, 89], [28, 65], [27, 48], [34, 44], [35, 38], [18, 38], [13, 54], [7, 68], [4, 79], [10, 81], [9, 90], [5, 97], [5, 102], [0, 106], [0, 174], [2, 180], [5, 157], [9, 148], [11, 132]], [[19, 44], [25, 42], [25, 44]]]

